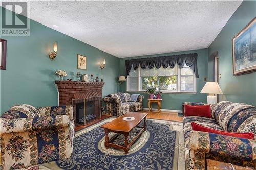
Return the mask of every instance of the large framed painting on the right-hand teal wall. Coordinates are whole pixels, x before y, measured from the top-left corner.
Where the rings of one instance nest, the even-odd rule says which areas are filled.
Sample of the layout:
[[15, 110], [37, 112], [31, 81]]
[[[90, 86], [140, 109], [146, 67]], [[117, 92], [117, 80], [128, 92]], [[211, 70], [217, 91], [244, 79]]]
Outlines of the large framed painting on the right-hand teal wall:
[[256, 71], [256, 17], [232, 38], [233, 75]]

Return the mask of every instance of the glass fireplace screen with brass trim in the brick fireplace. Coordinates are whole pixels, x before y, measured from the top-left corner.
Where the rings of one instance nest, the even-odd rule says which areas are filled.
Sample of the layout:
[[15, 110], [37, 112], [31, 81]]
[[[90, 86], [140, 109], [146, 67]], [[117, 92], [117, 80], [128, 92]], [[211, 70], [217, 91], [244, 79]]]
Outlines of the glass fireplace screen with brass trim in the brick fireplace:
[[86, 125], [100, 119], [100, 97], [72, 99], [75, 125]]

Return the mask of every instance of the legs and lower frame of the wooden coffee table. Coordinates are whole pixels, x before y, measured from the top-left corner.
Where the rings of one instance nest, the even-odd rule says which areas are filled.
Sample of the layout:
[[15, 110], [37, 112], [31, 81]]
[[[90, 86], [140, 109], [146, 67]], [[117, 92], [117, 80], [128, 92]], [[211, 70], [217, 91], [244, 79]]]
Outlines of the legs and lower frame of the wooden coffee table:
[[[136, 128], [142, 128], [142, 129], [136, 135], [136, 137], [133, 138], [133, 140], [130, 143], [128, 143], [129, 132], [119, 132], [119, 131], [105, 129], [105, 135], [106, 135], [105, 136], [105, 147], [106, 147], [106, 149], [109, 149], [109, 147], [123, 149], [125, 154], [128, 154], [129, 148], [132, 146], [132, 144], [138, 139], [138, 137], [142, 134], [143, 131], [146, 131], [146, 118], [144, 118], [144, 126], [143, 127], [136, 126]], [[116, 133], [110, 140], [109, 140], [109, 132]], [[125, 137], [124, 146], [113, 143], [113, 141], [121, 134], [123, 134]]]

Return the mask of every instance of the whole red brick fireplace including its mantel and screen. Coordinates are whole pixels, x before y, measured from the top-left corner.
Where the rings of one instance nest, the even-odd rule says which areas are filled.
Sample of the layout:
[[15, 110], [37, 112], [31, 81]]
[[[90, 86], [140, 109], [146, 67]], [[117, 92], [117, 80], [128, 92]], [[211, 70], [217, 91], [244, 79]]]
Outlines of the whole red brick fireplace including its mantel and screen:
[[75, 126], [101, 118], [104, 82], [55, 81], [59, 106], [72, 105]]

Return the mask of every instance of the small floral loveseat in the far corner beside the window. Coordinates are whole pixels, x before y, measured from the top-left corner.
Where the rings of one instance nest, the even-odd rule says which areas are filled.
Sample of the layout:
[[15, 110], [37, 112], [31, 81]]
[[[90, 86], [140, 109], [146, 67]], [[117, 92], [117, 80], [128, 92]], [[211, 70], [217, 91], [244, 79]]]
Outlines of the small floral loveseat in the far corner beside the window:
[[127, 112], [136, 112], [142, 110], [144, 96], [139, 95], [136, 102], [131, 101], [128, 93], [109, 94], [104, 98], [106, 102], [106, 114], [121, 116]]

